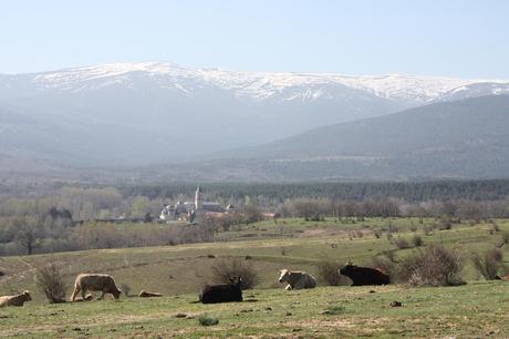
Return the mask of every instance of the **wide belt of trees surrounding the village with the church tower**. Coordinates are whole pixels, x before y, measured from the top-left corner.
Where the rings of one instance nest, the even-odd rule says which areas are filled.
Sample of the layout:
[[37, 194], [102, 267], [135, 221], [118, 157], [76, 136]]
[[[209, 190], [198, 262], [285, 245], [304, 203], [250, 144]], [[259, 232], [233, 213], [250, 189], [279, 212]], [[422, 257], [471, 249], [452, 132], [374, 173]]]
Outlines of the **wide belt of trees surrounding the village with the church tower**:
[[268, 214], [276, 222], [278, 217], [362, 220], [413, 216], [478, 223], [509, 217], [508, 183], [210, 184], [204, 185], [206, 198], [224, 206], [233, 204], [237, 213], [208, 217], [199, 227], [96, 222], [147, 215], [146, 222], [157, 220], [164, 204], [193, 199], [194, 184], [11, 189], [0, 193], [0, 255], [212, 242], [216, 234]]

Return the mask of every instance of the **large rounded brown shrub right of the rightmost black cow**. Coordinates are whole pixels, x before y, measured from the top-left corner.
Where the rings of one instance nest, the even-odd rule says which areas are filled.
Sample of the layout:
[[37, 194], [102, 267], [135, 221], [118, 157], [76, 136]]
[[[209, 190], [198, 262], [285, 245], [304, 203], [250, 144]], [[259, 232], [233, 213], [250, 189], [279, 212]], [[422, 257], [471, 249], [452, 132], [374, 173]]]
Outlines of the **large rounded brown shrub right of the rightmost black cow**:
[[398, 269], [399, 279], [411, 286], [457, 286], [464, 261], [456, 250], [429, 245], [405, 258]]

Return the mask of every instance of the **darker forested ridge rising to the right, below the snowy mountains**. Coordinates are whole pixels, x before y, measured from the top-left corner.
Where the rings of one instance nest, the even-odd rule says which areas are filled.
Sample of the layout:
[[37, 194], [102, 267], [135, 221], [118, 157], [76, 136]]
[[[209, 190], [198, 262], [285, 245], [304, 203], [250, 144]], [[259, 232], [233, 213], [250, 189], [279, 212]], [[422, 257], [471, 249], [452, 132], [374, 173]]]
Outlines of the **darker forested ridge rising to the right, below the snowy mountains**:
[[280, 181], [507, 177], [507, 131], [509, 95], [470, 97], [218, 153], [209, 166]]

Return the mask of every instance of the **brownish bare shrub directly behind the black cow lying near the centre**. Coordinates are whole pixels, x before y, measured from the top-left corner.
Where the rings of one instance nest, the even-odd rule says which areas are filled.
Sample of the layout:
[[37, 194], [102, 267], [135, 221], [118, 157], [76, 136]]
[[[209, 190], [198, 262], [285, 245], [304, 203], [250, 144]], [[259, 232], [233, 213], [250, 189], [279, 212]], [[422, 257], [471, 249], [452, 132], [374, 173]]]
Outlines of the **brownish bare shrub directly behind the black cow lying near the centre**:
[[242, 278], [242, 289], [253, 288], [258, 284], [258, 274], [251, 260], [240, 258], [221, 259], [211, 266], [212, 280], [217, 284], [229, 284], [230, 278]]

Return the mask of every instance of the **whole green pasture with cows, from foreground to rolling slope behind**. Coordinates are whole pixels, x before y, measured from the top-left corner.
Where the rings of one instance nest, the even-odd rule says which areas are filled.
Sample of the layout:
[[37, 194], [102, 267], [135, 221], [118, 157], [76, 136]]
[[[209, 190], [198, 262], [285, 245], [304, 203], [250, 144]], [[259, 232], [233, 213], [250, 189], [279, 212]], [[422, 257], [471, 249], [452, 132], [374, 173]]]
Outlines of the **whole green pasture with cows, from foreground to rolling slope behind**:
[[[242, 226], [219, 234], [225, 242], [167, 247], [122, 248], [0, 258], [0, 295], [24, 289], [33, 301], [22, 308], [0, 309], [0, 336], [21, 337], [509, 337], [509, 282], [482, 281], [469, 264], [472, 251], [491, 248], [509, 232], [509, 220], [457, 224], [438, 230], [435, 220], [366, 219], [362, 223], [303, 222], [281, 219]], [[316, 274], [316, 261], [326, 256], [367, 263], [384, 250], [396, 257], [411, 249], [397, 249], [387, 232], [377, 238], [375, 229], [397, 228], [393, 238], [423, 237], [425, 245], [440, 243], [461, 251], [467, 263], [465, 286], [445, 288], [324, 287], [285, 291], [277, 282], [278, 269], [288, 267]], [[426, 235], [424, 228], [428, 228]], [[506, 261], [508, 245], [502, 247]], [[214, 256], [214, 258], [211, 258]], [[250, 301], [200, 305], [200, 286], [209, 280], [210, 266], [224, 257], [250, 256], [260, 282], [245, 291]], [[37, 267], [55, 261], [71, 284], [79, 273], [111, 274], [117, 285], [127, 284], [133, 294], [141, 289], [164, 294], [163, 298], [48, 305], [37, 290]], [[319, 281], [320, 285], [321, 281]], [[322, 284], [323, 285], [323, 284]], [[374, 292], [372, 292], [372, 290]], [[389, 307], [391, 301], [403, 307]], [[185, 314], [185, 318], [175, 317]], [[328, 314], [329, 312], [329, 314]], [[204, 327], [198, 318], [217, 318]]]

